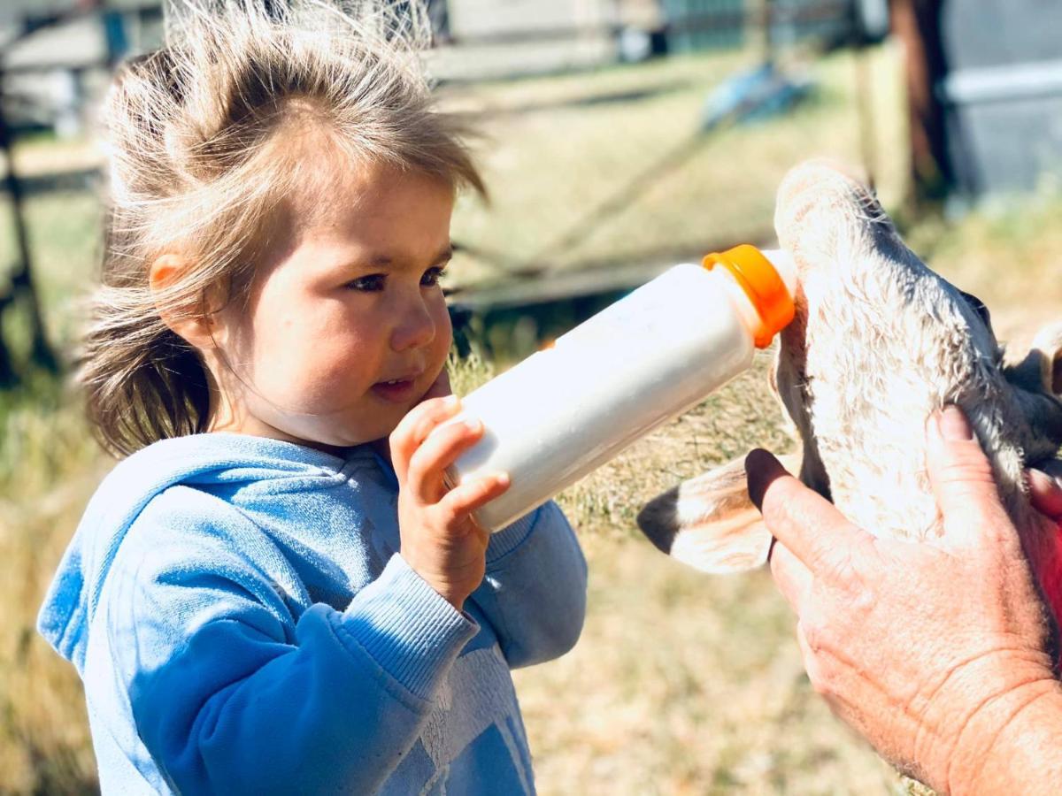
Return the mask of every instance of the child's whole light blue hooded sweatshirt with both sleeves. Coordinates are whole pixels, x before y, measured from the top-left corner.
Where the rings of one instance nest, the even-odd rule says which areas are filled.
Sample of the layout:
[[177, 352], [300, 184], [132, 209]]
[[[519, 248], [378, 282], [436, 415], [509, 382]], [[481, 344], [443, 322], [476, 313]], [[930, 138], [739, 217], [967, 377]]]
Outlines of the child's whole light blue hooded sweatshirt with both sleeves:
[[509, 670], [579, 636], [575, 535], [552, 503], [495, 534], [461, 612], [397, 555], [396, 505], [366, 446], [202, 434], [121, 462], [38, 620], [103, 793], [533, 793]]

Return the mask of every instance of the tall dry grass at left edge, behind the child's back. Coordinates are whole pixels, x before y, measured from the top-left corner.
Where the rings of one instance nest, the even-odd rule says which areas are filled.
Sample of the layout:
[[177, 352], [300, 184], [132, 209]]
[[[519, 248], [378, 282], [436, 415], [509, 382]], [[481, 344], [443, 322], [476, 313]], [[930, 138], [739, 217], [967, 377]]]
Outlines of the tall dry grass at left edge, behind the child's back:
[[81, 682], [34, 627], [106, 465], [76, 406], [54, 388], [6, 401], [0, 423], [0, 793], [91, 793]]

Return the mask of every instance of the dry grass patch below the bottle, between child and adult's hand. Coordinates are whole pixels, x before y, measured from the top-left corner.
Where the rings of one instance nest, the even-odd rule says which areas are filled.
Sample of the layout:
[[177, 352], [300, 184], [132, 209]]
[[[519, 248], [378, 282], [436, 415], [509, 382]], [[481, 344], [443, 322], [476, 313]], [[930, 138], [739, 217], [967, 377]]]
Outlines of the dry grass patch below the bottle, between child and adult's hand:
[[590, 610], [572, 653], [516, 674], [544, 794], [900, 792], [810, 690], [766, 572], [706, 577], [635, 530], [637, 508], [680, 480], [791, 445], [767, 364], [560, 497]]

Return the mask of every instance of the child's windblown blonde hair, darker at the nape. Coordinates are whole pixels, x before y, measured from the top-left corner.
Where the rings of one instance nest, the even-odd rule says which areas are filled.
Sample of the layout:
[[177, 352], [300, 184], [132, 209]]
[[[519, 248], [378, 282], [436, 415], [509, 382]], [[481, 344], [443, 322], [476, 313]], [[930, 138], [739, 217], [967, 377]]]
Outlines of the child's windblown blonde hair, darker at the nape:
[[[377, 162], [485, 193], [459, 119], [434, 107], [416, 0], [177, 0], [164, 48], [127, 63], [103, 120], [110, 196], [101, 287], [79, 356], [97, 435], [115, 453], [205, 430], [198, 351], [162, 315], [244, 292], [268, 220], [305, 190], [299, 152], [323, 134]], [[296, 141], [297, 142], [297, 141]], [[154, 260], [189, 264], [152, 293]]]

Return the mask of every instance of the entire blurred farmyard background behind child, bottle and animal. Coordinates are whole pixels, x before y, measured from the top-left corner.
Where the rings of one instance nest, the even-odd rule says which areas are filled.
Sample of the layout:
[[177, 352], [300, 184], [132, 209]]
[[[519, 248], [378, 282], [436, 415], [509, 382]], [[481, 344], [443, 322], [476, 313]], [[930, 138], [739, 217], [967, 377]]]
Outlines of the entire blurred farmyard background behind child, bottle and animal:
[[[1062, 315], [1056, 0], [430, 6], [435, 90], [482, 129], [492, 192], [453, 220], [458, 392], [671, 264], [770, 245], [777, 184], [816, 155], [861, 167], [1015, 353]], [[98, 790], [80, 683], [33, 624], [114, 464], [68, 386], [100, 255], [93, 113], [165, 17], [153, 0], [0, 5], [0, 793]], [[590, 606], [572, 653], [516, 674], [543, 793], [905, 790], [811, 692], [766, 573], [687, 571], [634, 525], [680, 480], [790, 445], [766, 365], [561, 496]]]

